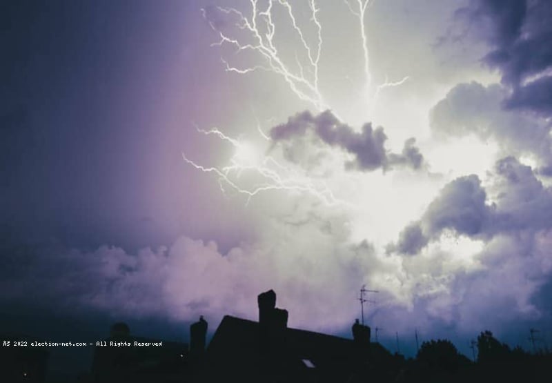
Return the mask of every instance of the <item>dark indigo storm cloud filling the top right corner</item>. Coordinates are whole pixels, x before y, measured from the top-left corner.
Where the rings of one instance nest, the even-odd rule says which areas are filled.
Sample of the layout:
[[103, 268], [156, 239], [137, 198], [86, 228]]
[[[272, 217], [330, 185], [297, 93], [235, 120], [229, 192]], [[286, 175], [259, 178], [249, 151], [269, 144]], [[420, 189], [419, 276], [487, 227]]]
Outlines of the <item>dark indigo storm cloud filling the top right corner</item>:
[[484, 61], [500, 70], [502, 82], [513, 89], [506, 106], [549, 115], [552, 91], [546, 70], [552, 66], [552, 3], [477, 0], [468, 13], [491, 44]]

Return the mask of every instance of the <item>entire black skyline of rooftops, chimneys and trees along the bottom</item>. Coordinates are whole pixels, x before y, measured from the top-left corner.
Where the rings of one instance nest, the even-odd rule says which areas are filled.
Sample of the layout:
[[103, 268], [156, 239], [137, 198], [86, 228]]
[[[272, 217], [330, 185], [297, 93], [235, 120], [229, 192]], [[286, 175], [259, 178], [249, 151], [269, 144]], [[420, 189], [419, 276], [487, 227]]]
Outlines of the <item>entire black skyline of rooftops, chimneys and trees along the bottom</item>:
[[[449, 340], [424, 342], [405, 359], [372, 342], [371, 328], [358, 320], [347, 339], [288, 328], [288, 312], [276, 307], [272, 290], [257, 304], [258, 322], [226, 315], [208, 346], [203, 317], [190, 326], [189, 345], [137, 337], [114, 324], [95, 346], [90, 373], [72, 382], [552, 382], [552, 353], [511, 349], [490, 331], [477, 337], [473, 361]], [[48, 382], [47, 347], [2, 347], [0, 358], [1, 382]]]

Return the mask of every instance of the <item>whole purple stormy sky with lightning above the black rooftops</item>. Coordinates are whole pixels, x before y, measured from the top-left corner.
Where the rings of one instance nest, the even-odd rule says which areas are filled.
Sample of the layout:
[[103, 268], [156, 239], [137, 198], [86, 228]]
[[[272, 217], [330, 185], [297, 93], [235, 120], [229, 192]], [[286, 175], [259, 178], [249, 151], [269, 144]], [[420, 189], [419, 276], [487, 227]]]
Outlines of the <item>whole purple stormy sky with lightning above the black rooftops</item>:
[[544, 0], [3, 1], [3, 333], [186, 340], [199, 315], [256, 320], [273, 288], [289, 326], [350, 336], [366, 285], [392, 351], [415, 329], [552, 342], [551, 19]]

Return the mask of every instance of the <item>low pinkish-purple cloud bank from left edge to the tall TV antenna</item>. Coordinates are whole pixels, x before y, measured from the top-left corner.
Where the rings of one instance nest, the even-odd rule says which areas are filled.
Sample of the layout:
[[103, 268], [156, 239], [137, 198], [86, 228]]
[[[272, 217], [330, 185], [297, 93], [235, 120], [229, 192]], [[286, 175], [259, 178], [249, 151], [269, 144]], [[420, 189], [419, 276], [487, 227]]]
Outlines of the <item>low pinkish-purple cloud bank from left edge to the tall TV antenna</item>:
[[[266, 234], [257, 241], [224, 253], [215, 242], [186, 236], [136, 253], [57, 243], [2, 248], [0, 287], [7, 293], [0, 300], [184, 321], [206, 315], [216, 328], [225, 314], [255, 320], [257, 294], [273, 288], [290, 311], [290, 324], [348, 326], [357, 314], [359, 286], [391, 266], [367, 242], [347, 241], [344, 217], [321, 214], [294, 212], [286, 220], [264, 222]], [[289, 220], [302, 224], [290, 226]], [[339, 284], [329, 288], [329, 281]], [[343, 299], [348, 295], [350, 302]]]

